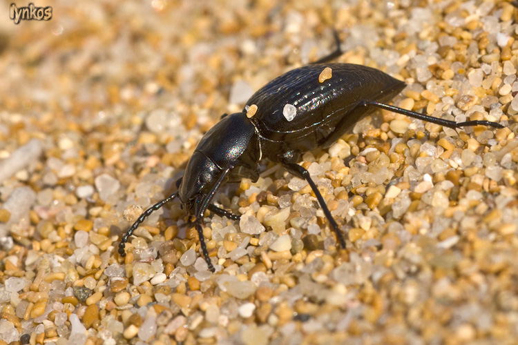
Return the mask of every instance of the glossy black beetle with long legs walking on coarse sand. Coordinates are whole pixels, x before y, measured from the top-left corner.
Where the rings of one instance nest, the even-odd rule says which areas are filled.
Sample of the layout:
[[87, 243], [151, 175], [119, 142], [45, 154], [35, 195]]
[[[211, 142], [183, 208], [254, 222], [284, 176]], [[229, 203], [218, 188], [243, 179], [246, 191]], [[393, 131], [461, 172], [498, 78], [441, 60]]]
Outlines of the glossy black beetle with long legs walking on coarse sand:
[[[329, 57], [333, 58], [334, 55], [336, 53]], [[261, 159], [278, 162], [291, 174], [309, 183], [340, 246], [345, 248], [344, 235], [324, 198], [309, 172], [297, 164], [304, 152], [331, 146], [373, 108], [391, 110], [449, 128], [476, 125], [503, 128], [490, 121], [457, 124], [389, 106], [383, 102], [392, 99], [405, 88], [403, 81], [375, 68], [320, 61], [277, 77], [258, 90], [247, 101], [242, 112], [222, 117], [198, 143], [187, 163], [184, 176], [176, 182], [178, 192], [142, 213], [122, 237], [119, 255], [126, 255], [124, 245], [148, 215], [178, 197], [185, 212], [195, 219], [192, 224], [198, 231], [203, 257], [214, 272], [203, 236], [203, 215], [209, 209], [229, 219], [239, 219], [240, 216], [218, 208], [210, 201], [218, 188], [227, 181], [240, 181], [243, 177], [257, 181]], [[330, 77], [329, 74], [322, 77], [325, 68], [331, 69]]]

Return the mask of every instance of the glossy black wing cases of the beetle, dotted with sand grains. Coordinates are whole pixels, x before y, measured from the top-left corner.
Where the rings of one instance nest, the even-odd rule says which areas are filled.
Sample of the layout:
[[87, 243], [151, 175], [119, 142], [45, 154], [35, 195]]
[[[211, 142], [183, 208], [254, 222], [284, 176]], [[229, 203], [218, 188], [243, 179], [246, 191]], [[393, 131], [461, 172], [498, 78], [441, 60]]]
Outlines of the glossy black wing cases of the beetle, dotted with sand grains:
[[[318, 81], [324, 68], [332, 77]], [[318, 63], [296, 68], [270, 81], [247, 102], [258, 111], [251, 118], [258, 129], [263, 157], [278, 161], [285, 150], [306, 152], [328, 147], [340, 138], [370, 107], [361, 101], [387, 101], [405, 88], [405, 83], [380, 70], [352, 63]], [[296, 108], [288, 121], [286, 104]]]

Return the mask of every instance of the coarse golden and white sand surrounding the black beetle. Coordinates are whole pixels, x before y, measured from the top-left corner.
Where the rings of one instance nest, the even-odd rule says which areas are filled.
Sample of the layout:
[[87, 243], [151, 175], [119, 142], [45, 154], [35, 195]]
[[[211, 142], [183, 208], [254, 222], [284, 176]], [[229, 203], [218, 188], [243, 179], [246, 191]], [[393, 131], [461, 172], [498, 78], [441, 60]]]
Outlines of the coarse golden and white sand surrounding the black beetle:
[[[515, 344], [518, 42], [507, 1], [48, 1], [0, 5], [0, 345]], [[17, 3], [17, 6], [26, 6]], [[428, 6], [428, 7], [427, 7]], [[261, 162], [213, 201], [207, 270], [173, 193], [224, 113], [334, 50], [405, 81], [393, 103]], [[259, 110], [260, 111], [260, 110]]]

